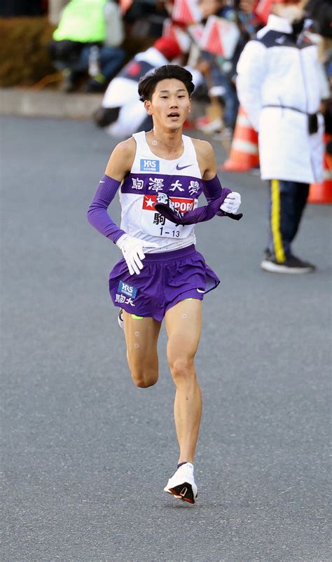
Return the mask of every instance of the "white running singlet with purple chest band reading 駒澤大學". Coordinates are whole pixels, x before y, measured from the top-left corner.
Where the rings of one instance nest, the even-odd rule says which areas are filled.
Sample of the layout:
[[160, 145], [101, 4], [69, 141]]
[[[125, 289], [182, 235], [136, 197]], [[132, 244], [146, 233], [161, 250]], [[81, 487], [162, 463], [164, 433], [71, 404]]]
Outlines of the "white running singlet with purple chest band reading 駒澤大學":
[[130, 174], [120, 186], [120, 228], [135, 238], [158, 244], [158, 248], [144, 249], [146, 253], [171, 252], [195, 244], [193, 225], [176, 225], [155, 210], [160, 192], [167, 193], [181, 212], [198, 206], [203, 182], [191, 138], [182, 135], [182, 155], [165, 160], [153, 154], [144, 131], [132, 136], [137, 146]]

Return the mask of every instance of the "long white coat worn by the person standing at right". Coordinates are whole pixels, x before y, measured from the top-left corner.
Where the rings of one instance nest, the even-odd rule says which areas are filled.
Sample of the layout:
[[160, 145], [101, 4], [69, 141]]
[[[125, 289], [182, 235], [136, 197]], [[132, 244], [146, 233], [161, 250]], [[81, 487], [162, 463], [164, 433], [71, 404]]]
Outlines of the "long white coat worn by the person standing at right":
[[319, 61], [317, 46], [305, 34], [296, 44], [292, 31], [288, 20], [270, 15], [242, 51], [237, 94], [258, 131], [261, 178], [310, 184], [321, 181], [323, 168], [323, 116], [314, 135], [307, 124], [321, 100]]

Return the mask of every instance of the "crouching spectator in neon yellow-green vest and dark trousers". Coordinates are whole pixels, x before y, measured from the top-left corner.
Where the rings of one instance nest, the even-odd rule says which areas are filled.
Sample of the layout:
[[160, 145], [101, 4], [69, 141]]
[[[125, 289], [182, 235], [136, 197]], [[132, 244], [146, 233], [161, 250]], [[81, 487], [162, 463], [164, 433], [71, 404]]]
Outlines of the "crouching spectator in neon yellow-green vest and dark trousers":
[[76, 89], [88, 72], [85, 92], [104, 91], [123, 64], [123, 22], [116, 0], [71, 0], [62, 12], [51, 41], [50, 57], [62, 70], [62, 89]]

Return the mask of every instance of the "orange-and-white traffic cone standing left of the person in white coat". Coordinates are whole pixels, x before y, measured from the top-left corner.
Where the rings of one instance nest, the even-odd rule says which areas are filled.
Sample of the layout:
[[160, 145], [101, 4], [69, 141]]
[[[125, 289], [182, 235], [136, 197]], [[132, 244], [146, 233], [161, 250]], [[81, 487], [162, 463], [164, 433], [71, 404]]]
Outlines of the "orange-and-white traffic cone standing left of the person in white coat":
[[240, 107], [232, 146], [230, 146], [230, 157], [223, 163], [221, 170], [247, 172], [258, 166], [258, 133], [251, 127], [246, 112]]

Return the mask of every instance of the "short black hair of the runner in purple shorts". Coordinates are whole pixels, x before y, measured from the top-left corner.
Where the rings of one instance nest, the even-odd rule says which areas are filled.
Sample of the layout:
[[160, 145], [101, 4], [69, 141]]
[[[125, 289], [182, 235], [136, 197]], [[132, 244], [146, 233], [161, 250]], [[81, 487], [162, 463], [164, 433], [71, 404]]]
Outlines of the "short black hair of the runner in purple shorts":
[[191, 97], [195, 88], [192, 74], [185, 68], [179, 67], [177, 64], [165, 64], [163, 67], [155, 68], [153, 71], [141, 77], [139, 81], [139, 99], [141, 102], [145, 102], [146, 100], [151, 101], [155, 86], [158, 82], [166, 80], [167, 78], [176, 78], [183, 82], [189, 97]]

